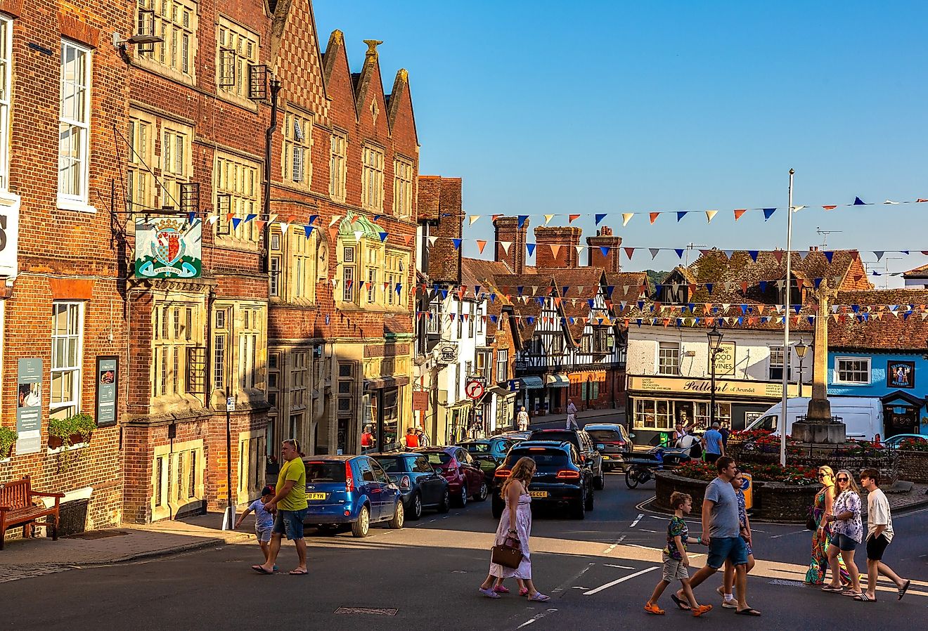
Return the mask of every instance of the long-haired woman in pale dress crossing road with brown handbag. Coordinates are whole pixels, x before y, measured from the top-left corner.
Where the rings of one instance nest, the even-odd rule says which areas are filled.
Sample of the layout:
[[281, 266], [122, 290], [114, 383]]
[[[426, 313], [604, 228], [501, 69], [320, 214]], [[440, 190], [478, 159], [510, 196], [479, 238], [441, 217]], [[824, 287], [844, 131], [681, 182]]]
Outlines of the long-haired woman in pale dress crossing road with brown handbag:
[[490, 563], [490, 573], [480, 586], [480, 593], [489, 599], [499, 598], [499, 593], [493, 589], [494, 583], [501, 585], [502, 579], [513, 577], [521, 579], [529, 600], [550, 600], [548, 596], [539, 592], [532, 582], [532, 556], [528, 546], [528, 539], [532, 534], [532, 496], [528, 495], [528, 485], [534, 473], [535, 460], [522, 457], [503, 483], [501, 495], [506, 500], [506, 509], [499, 518], [495, 545], [502, 545], [506, 539], [518, 539], [519, 547], [522, 549], [522, 562], [514, 570], [498, 563]]

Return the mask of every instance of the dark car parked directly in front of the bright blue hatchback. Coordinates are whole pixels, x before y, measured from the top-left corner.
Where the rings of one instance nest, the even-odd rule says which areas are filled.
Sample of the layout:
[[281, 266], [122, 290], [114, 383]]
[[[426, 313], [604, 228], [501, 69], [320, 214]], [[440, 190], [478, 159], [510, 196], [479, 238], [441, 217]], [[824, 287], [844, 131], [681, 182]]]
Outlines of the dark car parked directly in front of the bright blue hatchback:
[[425, 454], [396, 451], [369, 454], [380, 463], [390, 480], [400, 487], [406, 517], [418, 520], [422, 509], [447, 512], [451, 508], [451, 492], [448, 481], [440, 470], [429, 464]]

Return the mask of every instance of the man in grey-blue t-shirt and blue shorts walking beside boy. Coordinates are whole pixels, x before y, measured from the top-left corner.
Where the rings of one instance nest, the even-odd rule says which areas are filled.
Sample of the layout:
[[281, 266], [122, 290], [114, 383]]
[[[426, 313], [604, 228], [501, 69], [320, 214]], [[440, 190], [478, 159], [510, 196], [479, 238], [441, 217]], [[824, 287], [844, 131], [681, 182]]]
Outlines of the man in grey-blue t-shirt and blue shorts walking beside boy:
[[[715, 470], [718, 471], [718, 476], [706, 486], [705, 498], [702, 500], [700, 541], [709, 547], [709, 556], [705, 565], [693, 574], [690, 586], [695, 589], [722, 567], [725, 560], [731, 560], [735, 566], [735, 593], [738, 597], [738, 607], [735, 613], [760, 615], [760, 612], [751, 607], [747, 601], [747, 547], [740, 535], [738, 498], [731, 487], [731, 480], [738, 469], [732, 458], [722, 456], [715, 460]], [[682, 590], [677, 591], [670, 598], [677, 603], [678, 608], [690, 611], [690, 604], [684, 600], [685, 594]]]

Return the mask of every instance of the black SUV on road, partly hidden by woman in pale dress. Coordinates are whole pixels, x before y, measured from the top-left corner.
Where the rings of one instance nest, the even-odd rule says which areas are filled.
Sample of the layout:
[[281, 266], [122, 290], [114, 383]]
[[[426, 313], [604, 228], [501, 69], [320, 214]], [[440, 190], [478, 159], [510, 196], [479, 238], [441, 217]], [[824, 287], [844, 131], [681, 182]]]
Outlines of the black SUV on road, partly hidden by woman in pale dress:
[[532, 503], [566, 504], [574, 519], [586, 517], [586, 510], [593, 509], [593, 474], [567, 441], [525, 441], [509, 449], [493, 478], [493, 516], [499, 519], [506, 509], [500, 496], [503, 483], [516, 462], [526, 456], [535, 460], [535, 475], [528, 488]]

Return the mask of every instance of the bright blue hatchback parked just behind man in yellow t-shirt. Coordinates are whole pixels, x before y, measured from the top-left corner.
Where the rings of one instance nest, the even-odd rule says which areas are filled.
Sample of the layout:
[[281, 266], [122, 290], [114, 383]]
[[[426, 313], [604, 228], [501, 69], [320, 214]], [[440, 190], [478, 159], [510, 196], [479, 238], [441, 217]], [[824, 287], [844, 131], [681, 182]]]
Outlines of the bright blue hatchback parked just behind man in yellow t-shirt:
[[350, 526], [357, 537], [367, 536], [372, 523], [403, 527], [400, 489], [374, 458], [315, 456], [303, 458], [303, 464], [309, 504], [304, 524], [324, 532]]

